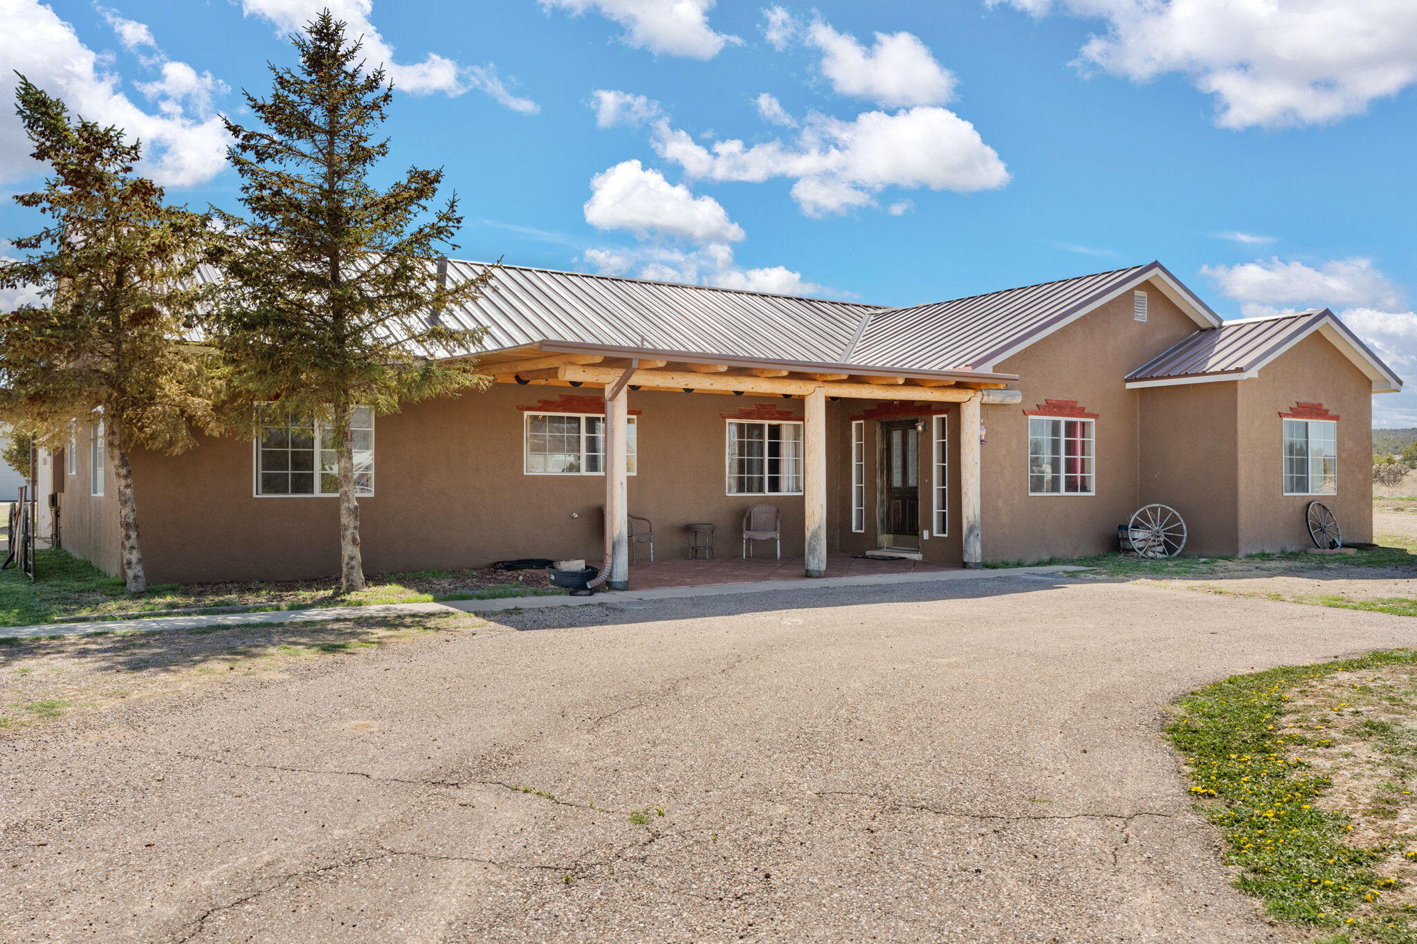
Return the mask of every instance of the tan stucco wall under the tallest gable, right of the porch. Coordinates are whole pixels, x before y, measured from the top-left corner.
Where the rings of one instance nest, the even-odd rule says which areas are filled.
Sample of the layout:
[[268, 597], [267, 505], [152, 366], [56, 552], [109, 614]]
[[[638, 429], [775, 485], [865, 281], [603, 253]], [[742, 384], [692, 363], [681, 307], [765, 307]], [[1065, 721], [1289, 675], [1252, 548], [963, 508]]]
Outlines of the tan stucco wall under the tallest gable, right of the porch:
[[[1132, 293], [1083, 316], [1000, 362], [1017, 374], [1022, 406], [985, 406], [981, 507], [985, 560], [1046, 560], [1117, 548], [1117, 525], [1138, 507], [1138, 392], [1122, 378], [1196, 331], [1197, 324], [1146, 283], [1148, 318]], [[1044, 399], [1097, 413], [1097, 494], [1029, 495], [1027, 418]]]

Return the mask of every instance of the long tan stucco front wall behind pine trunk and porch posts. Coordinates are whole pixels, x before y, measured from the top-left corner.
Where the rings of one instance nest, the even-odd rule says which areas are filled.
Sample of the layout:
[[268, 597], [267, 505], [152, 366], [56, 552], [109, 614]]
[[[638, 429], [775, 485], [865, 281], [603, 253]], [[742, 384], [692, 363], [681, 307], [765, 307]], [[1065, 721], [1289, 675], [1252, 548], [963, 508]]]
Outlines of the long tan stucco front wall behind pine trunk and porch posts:
[[[497, 385], [480, 393], [408, 406], [376, 425], [376, 494], [360, 500], [366, 569], [479, 566], [506, 558], [601, 556], [599, 476], [526, 476], [523, 412], [572, 388]], [[595, 391], [585, 391], [595, 395]], [[801, 401], [708, 393], [632, 392], [642, 410], [639, 471], [629, 510], [655, 522], [660, 558], [686, 555], [690, 521], [718, 526], [720, 555], [740, 549], [744, 511], [782, 510], [782, 553], [802, 553], [799, 495], [726, 494], [723, 413], [765, 403], [802, 416]], [[829, 449], [840, 453], [839, 405]], [[149, 576], [163, 580], [278, 579], [336, 572], [333, 498], [254, 497], [252, 446], [205, 439], [173, 457], [135, 457]], [[572, 517], [574, 515], [574, 517]], [[835, 535], [833, 535], [835, 549]], [[645, 559], [648, 549], [635, 545]], [[772, 553], [760, 542], [757, 553]]]

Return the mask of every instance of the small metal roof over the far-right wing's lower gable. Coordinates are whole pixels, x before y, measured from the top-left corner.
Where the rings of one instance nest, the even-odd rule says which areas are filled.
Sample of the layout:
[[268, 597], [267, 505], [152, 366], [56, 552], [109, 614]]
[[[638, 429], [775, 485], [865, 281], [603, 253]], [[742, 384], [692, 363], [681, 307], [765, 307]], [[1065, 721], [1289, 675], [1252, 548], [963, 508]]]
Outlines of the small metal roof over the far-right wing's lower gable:
[[[1373, 379], [1374, 392], [1399, 391], [1403, 381], [1328, 309], [1226, 321], [1196, 331], [1127, 375], [1128, 384], [1195, 378], [1244, 378], [1323, 328], [1340, 350]], [[1332, 328], [1332, 331], [1329, 331]]]

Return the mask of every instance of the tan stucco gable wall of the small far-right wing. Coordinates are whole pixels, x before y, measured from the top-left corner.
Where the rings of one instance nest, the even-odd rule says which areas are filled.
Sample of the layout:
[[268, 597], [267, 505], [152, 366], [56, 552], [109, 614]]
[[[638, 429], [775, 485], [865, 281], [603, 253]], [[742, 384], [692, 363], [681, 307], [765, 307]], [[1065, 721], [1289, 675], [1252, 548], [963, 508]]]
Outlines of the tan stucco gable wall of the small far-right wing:
[[[1345, 541], [1372, 541], [1372, 381], [1328, 340], [1311, 334], [1238, 388], [1241, 552], [1314, 546], [1304, 519], [1314, 500], [1333, 510]], [[1340, 418], [1336, 495], [1284, 494], [1280, 413], [1298, 401], [1322, 403]]]

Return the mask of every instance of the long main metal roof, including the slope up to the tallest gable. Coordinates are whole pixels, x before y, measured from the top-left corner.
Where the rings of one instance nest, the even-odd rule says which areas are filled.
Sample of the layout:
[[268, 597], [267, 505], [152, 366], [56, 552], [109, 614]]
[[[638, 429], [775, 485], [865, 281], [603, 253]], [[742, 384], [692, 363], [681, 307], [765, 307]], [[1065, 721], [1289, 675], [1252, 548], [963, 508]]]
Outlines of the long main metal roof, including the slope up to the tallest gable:
[[[452, 282], [492, 267], [452, 259], [444, 265]], [[429, 262], [429, 277], [438, 277], [441, 267]], [[1219, 323], [1159, 262], [897, 309], [496, 266], [480, 299], [445, 310], [442, 317], [455, 327], [482, 328], [480, 352], [561, 343], [863, 371], [981, 374], [1128, 284], [1153, 276], [1189, 299], [1200, 313], [1197, 320]], [[220, 273], [203, 267], [201, 277], [217, 280]]]

